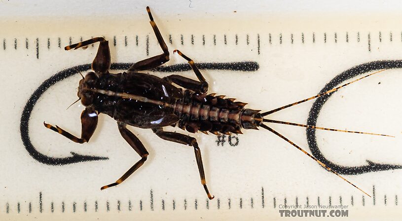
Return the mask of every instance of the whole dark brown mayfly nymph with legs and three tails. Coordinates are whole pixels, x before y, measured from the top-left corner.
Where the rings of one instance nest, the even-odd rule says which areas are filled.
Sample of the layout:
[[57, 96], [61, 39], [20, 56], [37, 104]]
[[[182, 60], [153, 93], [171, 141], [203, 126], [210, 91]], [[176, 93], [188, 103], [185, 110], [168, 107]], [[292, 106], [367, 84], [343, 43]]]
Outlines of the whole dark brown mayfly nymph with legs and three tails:
[[[108, 114], [117, 121], [117, 126], [122, 137], [141, 156], [141, 159], [115, 183], [105, 185], [101, 189], [122, 183], [132, 173], [134, 173], [134, 171], [141, 167], [147, 159], [148, 152], [146, 148], [141, 141], [126, 128], [126, 125], [139, 128], [149, 128], [152, 129], [158, 137], [164, 140], [192, 146], [197, 160], [201, 184], [204, 186], [209, 199], [213, 199], [214, 197], [208, 191], [205, 182], [201, 150], [198, 147], [196, 139], [177, 132], [166, 132], [163, 130], [163, 127], [177, 126], [191, 133], [203, 132], [208, 134], [208, 132], [210, 132], [215, 135], [219, 135], [220, 133], [241, 134], [242, 129], [258, 129], [258, 127], [262, 127], [286, 140], [288, 143], [317, 161], [321, 166], [346, 181], [346, 179], [331, 170], [324, 163], [320, 162], [314, 156], [307, 153], [292, 141], [265, 125], [263, 122], [290, 124], [323, 130], [342, 130], [264, 119], [263, 116], [334, 92], [357, 80], [321, 93], [317, 96], [272, 111], [260, 113], [258, 110], [246, 109], [246, 103], [236, 102], [233, 98], [225, 99], [224, 96], [207, 94], [208, 82], [200, 73], [193, 60], [185, 56], [179, 50], [175, 50], [174, 52], [177, 52], [188, 61], [198, 80], [193, 80], [177, 74], [160, 78], [155, 75], [141, 73], [141, 71], [156, 68], [169, 61], [168, 47], [153, 21], [149, 7], [146, 9], [150, 18], [150, 24], [163, 53], [135, 63], [127, 70], [127, 72], [111, 74], [109, 73], [109, 42], [104, 37], [95, 37], [65, 47], [66, 50], [70, 50], [87, 47], [95, 42], [100, 42], [98, 52], [92, 63], [93, 72], [89, 72], [79, 81], [77, 95], [81, 100], [81, 103], [86, 106], [81, 114], [81, 137], [77, 138], [58, 126], [54, 127], [50, 124], [44, 123], [45, 127], [62, 134], [73, 142], [84, 143], [88, 142], [93, 135], [98, 123], [99, 114]], [[173, 85], [173, 83], [180, 87]], [[342, 132], [363, 133], [355, 131]], [[350, 183], [349, 181], [346, 182]]]

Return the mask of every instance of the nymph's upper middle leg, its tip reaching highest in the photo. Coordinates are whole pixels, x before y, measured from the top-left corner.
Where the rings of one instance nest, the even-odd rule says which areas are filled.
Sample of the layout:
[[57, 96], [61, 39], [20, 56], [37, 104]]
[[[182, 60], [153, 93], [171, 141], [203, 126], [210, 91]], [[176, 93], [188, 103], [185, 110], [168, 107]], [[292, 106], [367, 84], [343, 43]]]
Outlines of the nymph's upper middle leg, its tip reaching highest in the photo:
[[145, 60], [135, 63], [133, 66], [131, 66], [128, 69], [128, 71], [131, 71], [131, 72], [153, 69], [153, 68], [156, 68], [169, 61], [168, 46], [166, 45], [165, 41], [163, 40], [163, 37], [160, 34], [158, 27], [156, 26], [156, 23], [153, 21], [152, 14], [151, 14], [151, 11], [148, 6], [146, 7], [146, 11], [148, 12], [148, 15], [149, 15], [149, 19], [150, 19], [149, 23], [151, 24], [153, 32], [155, 33], [156, 39], [158, 39], [159, 45], [163, 50], [163, 54], [156, 55], [154, 57], [147, 58]]

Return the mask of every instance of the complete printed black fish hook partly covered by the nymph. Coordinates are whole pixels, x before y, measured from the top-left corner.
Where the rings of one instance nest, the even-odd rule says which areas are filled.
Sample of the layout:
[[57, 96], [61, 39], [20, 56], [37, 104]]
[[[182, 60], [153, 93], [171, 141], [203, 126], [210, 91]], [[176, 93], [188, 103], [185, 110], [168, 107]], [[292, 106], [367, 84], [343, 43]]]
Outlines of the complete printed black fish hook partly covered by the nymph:
[[[111, 64], [111, 70], [127, 70], [132, 66], [133, 63], [113, 63]], [[253, 72], [258, 70], [259, 65], [256, 62], [231, 62], [231, 63], [197, 63], [197, 67], [199, 69], [211, 69], [211, 70], [231, 70], [231, 71], [244, 71], [244, 72]], [[59, 81], [62, 81], [74, 74], [78, 74], [78, 72], [86, 72], [91, 69], [91, 64], [78, 65], [72, 68], [65, 69], [61, 72], [58, 72], [51, 76], [50, 78], [43, 81], [43, 83], [34, 91], [34, 93], [29, 98], [27, 104], [24, 107], [21, 115], [21, 123], [20, 123], [20, 132], [21, 132], [21, 140], [27, 149], [28, 153], [38, 162], [44, 163], [47, 165], [66, 165], [71, 163], [78, 163], [84, 161], [94, 161], [94, 160], [107, 160], [108, 157], [101, 156], [90, 156], [90, 155], [80, 155], [75, 152], [71, 152], [72, 156], [64, 157], [64, 158], [56, 158], [44, 155], [37, 151], [37, 149], [32, 145], [31, 139], [29, 136], [29, 120], [31, 117], [31, 113], [34, 110], [34, 106], [36, 105], [40, 96], [49, 89], [52, 85], [56, 84]], [[172, 66], [164, 66], [158, 67], [151, 71], [156, 72], [183, 72], [191, 70], [190, 65], [178, 64]]]

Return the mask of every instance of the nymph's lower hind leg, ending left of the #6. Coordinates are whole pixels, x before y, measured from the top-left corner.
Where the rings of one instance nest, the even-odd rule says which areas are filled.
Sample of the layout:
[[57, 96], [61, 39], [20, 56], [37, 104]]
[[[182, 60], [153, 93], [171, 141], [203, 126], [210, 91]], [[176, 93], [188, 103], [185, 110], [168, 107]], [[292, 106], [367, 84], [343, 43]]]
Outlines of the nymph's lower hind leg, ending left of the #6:
[[180, 134], [180, 133], [175, 133], [175, 132], [166, 132], [163, 131], [162, 128], [154, 128], [152, 131], [160, 138], [166, 141], [172, 141], [176, 142], [179, 144], [184, 144], [188, 146], [194, 147], [194, 153], [195, 153], [195, 159], [197, 160], [197, 165], [198, 165], [198, 171], [200, 173], [201, 177], [201, 184], [204, 186], [205, 192], [207, 193], [207, 196], [209, 199], [213, 199], [215, 196], [211, 196], [211, 193], [208, 190], [207, 183], [205, 181], [205, 173], [204, 173], [204, 165], [202, 164], [202, 158], [201, 158], [201, 150], [198, 147], [197, 140], [195, 138]]

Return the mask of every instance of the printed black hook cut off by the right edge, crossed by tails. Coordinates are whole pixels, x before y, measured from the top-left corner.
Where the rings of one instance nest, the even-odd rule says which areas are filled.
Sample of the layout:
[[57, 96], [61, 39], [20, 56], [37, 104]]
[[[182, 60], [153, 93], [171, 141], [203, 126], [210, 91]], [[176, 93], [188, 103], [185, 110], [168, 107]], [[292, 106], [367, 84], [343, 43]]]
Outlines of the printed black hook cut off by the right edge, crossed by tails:
[[[337, 85], [343, 83], [344, 81], [358, 76], [360, 74], [365, 74], [368, 72], [373, 72], [376, 70], [381, 70], [381, 69], [387, 69], [387, 68], [402, 68], [402, 60], [384, 60], [384, 61], [374, 61], [374, 62], [368, 62], [364, 63], [358, 66], [355, 66], [349, 70], [346, 70], [342, 72], [341, 74], [338, 74], [335, 76], [331, 81], [329, 81], [328, 84], [325, 85], [325, 87], [319, 92], [323, 93], [325, 91], [328, 91]], [[328, 101], [329, 97], [332, 95], [332, 93], [324, 95], [322, 97], [319, 97], [313, 104], [313, 106], [310, 109], [309, 116], [307, 118], [307, 124], [308, 125], [313, 125], [315, 126], [317, 123], [317, 118], [318, 115], [324, 106], [325, 102]], [[357, 175], [357, 174], [364, 174], [364, 173], [369, 173], [369, 172], [376, 172], [376, 171], [384, 171], [384, 170], [395, 170], [395, 169], [402, 169], [402, 165], [393, 165], [393, 164], [380, 164], [380, 163], [374, 163], [372, 161], [366, 160], [368, 165], [363, 165], [363, 166], [355, 166], [355, 167], [349, 167], [349, 166], [341, 166], [335, 163], [332, 163], [329, 161], [323, 153], [320, 151], [317, 142], [316, 142], [316, 132], [314, 129], [308, 128], [306, 130], [306, 135], [307, 135], [307, 142], [308, 146], [313, 154], [317, 159], [319, 159], [321, 162], [329, 166], [332, 170], [336, 171], [339, 174], [344, 174], [344, 175]]]

